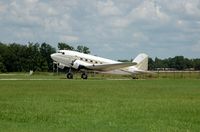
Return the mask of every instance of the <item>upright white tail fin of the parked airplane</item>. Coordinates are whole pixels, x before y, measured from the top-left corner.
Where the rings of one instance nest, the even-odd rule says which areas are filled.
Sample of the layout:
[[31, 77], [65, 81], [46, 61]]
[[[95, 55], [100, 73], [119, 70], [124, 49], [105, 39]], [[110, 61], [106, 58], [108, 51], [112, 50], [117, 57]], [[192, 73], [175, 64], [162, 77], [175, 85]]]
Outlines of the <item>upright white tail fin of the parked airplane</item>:
[[139, 70], [147, 71], [148, 70], [148, 55], [141, 53], [139, 54], [133, 62], [136, 62], [137, 65], [135, 65], [136, 68]]

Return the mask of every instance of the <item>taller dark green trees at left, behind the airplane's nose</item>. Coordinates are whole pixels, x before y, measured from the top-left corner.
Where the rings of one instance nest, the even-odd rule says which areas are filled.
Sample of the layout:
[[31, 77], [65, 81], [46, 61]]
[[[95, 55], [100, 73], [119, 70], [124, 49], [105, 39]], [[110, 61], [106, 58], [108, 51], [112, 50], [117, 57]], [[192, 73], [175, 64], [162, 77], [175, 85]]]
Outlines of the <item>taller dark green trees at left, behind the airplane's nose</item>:
[[[75, 49], [66, 43], [58, 43], [58, 49], [76, 50], [83, 53], [90, 53], [89, 48], [79, 45]], [[50, 57], [56, 49], [47, 43], [31, 43], [26, 45], [0, 42], [0, 72], [27, 72], [52, 71], [53, 61]]]

